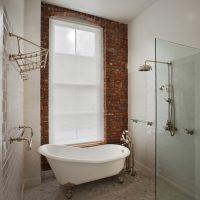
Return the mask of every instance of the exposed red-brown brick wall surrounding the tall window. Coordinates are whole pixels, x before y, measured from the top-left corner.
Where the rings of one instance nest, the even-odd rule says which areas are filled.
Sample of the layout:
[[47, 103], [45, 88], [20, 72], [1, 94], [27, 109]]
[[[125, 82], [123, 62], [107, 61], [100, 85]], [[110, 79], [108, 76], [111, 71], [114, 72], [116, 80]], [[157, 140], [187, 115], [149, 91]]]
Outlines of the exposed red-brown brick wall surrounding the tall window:
[[[49, 18], [75, 17], [103, 28], [104, 43], [104, 109], [107, 143], [119, 143], [128, 128], [128, 27], [126, 24], [42, 3], [41, 44], [49, 48]], [[47, 62], [48, 63], [48, 62]], [[42, 144], [48, 143], [48, 64], [41, 70], [41, 132]], [[42, 169], [49, 169], [42, 158]]]

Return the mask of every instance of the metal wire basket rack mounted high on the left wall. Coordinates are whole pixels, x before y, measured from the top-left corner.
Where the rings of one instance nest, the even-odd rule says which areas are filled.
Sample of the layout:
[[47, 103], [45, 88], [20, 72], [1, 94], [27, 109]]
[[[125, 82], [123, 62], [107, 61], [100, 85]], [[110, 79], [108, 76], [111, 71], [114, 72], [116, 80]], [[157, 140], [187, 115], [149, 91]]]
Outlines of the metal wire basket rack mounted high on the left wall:
[[[10, 54], [9, 59], [10, 61], [16, 62], [19, 73], [21, 77], [26, 80], [26, 72], [45, 68], [46, 62], [47, 62], [47, 56], [48, 56], [48, 49], [45, 49], [25, 38], [22, 38], [18, 35], [15, 35], [13, 33], [9, 33], [10, 37], [14, 37], [17, 40], [17, 46], [18, 46], [18, 53], [17, 54]], [[34, 46], [37, 50], [30, 53], [22, 53], [22, 41], [27, 42]]]

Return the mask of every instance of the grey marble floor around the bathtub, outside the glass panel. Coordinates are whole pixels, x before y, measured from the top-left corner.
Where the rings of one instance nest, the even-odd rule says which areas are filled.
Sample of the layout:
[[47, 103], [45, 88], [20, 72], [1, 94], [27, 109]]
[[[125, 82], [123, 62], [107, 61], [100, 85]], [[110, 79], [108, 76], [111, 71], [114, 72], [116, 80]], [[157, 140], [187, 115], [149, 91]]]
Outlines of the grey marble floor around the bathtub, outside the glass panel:
[[[24, 200], [66, 200], [65, 190], [55, 178], [25, 191]], [[136, 176], [125, 174], [124, 183], [110, 177], [78, 185], [73, 190], [72, 200], [155, 200], [152, 178], [137, 172]]]

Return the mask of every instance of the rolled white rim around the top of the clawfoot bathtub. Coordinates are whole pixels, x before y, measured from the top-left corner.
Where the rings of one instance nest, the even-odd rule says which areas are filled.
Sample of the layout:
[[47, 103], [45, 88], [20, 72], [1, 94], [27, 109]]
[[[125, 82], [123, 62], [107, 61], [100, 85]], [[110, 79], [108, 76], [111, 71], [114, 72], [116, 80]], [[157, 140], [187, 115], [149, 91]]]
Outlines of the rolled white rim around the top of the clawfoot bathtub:
[[[38, 148], [38, 152], [45, 156], [47, 159], [53, 159], [53, 160], [58, 160], [58, 161], [62, 161], [62, 162], [73, 162], [73, 163], [93, 163], [93, 164], [100, 164], [100, 163], [106, 163], [106, 162], [112, 162], [115, 160], [119, 160], [119, 159], [124, 159], [126, 157], [128, 157], [130, 155], [130, 150], [127, 147], [124, 147], [122, 145], [118, 145], [118, 144], [103, 144], [103, 145], [98, 145], [98, 146], [107, 146], [107, 145], [112, 145], [112, 146], [118, 146], [122, 149], [125, 150], [125, 152], [123, 154], [119, 154], [119, 156], [114, 157], [113, 159], [104, 159], [104, 160], [89, 160], [89, 159], [73, 159], [73, 158], [64, 158], [64, 157], [59, 157], [56, 156], [54, 154], [50, 154], [45, 152], [45, 147], [47, 146], [58, 146], [58, 147], [65, 147], [65, 148], [70, 148], [70, 149], [80, 149], [81, 147], [72, 147], [72, 146], [66, 146], [66, 145], [56, 145], [56, 144], [45, 144], [45, 145], [41, 145]], [[97, 148], [97, 146], [92, 146], [92, 147], [85, 147], [85, 148]]]

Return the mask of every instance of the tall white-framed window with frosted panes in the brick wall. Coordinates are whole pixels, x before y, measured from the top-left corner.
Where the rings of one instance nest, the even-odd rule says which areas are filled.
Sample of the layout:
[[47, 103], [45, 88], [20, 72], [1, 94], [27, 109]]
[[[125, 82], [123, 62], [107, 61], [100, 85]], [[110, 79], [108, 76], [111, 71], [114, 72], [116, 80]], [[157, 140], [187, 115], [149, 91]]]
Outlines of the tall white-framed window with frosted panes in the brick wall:
[[50, 20], [49, 142], [104, 140], [102, 30]]

